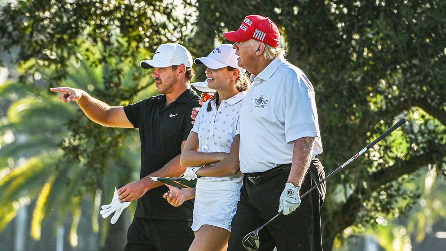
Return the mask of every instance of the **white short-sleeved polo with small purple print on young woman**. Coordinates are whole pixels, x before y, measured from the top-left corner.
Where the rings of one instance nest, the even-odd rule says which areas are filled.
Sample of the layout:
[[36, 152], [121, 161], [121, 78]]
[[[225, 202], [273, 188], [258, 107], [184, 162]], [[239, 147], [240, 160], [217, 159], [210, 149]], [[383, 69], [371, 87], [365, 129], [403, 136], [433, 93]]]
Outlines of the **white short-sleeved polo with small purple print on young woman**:
[[[227, 100], [222, 100], [219, 109], [215, 100], [208, 100], [202, 106], [195, 118], [192, 132], [198, 134], [198, 151], [200, 152], [226, 152], [231, 151], [235, 135], [240, 134], [240, 107], [246, 91], [240, 92]], [[207, 104], [211, 102], [212, 110], [207, 111]], [[226, 177], [201, 177], [204, 181], [233, 181], [241, 182], [242, 174]], [[201, 182], [200, 182], [201, 183]]]

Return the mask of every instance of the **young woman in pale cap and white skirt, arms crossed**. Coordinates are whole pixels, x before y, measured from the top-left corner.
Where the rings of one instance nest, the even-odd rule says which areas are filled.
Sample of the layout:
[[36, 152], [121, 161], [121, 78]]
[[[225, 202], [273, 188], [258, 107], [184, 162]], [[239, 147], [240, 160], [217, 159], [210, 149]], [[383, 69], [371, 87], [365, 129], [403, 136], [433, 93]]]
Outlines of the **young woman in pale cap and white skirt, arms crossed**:
[[164, 195], [174, 206], [195, 197], [190, 251], [226, 250], [240, 200], [239, 110], [251, 81], [237, 58], [232, 45], [223, 44], [194, 61], [207, 67], [208, 87], [217, 91], [198, 112], [181, 154], [181, 164], [188, 167], [184, 177], [198, 178], [197, 185], [169, 187]]

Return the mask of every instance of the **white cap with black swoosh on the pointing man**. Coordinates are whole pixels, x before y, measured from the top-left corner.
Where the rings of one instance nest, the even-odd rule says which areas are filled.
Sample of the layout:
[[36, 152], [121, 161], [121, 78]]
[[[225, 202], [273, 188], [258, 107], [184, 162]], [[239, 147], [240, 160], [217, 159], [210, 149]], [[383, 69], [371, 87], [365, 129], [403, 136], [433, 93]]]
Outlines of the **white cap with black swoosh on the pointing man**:
[[140, 65], [144, 69], [153, 67], [162, 68], [173, 65], [192, 67], [192, 55], [186, 47], [178, 43], [162, 44], [158, 46], [152, 59], [141, 61]]

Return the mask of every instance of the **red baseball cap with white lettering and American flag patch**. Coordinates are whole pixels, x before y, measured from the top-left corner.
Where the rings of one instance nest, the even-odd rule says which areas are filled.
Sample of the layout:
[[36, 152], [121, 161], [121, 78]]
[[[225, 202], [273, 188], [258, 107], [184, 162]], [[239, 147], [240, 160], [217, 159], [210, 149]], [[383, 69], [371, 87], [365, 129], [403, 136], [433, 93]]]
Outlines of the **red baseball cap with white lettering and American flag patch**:
[[269, 19], [260, 15], [246, 16], [240, 28], [224, 32], [223, 35], [231, 42], [241, 42], [255, 39], [273, 47], [279, 46], [279, 28]]

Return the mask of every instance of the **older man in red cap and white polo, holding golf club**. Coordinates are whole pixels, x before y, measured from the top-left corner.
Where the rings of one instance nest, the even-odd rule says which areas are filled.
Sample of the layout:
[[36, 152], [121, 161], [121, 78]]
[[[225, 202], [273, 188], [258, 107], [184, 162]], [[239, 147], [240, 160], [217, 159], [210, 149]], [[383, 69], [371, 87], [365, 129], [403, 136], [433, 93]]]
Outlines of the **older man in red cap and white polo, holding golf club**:
[[[320, 207], [326, 184], [302, 200], [325, 177], [314, 88], [306, 75], [287, 62], [280, 33], [268, 17], [245, 17], [224, 36], [235, 42], [238, 65], [253, 82], [240, 110], [240, 171], [244, 173], [228, 251], [244, 250], [249, 232], [277, 217], [259, 232], [253, 250], [322, 250]], [[295, 212], [293, 212], [295, 211]]]

